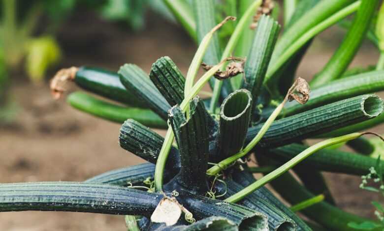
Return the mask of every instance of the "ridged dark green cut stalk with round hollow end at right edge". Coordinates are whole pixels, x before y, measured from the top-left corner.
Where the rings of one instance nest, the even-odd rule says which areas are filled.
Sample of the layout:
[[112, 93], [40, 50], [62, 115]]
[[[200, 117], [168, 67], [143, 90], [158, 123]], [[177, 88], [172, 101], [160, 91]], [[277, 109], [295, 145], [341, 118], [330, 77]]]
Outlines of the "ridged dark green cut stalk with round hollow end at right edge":
[[[274, 121], [259, 147], [273, 147], [347, 127], [372, 119], [383, 111], [383, 100], [377, 95], [360, 95], [303, 113]], [[263, 124], [248, 129], [246, 144], [256, 136]]]

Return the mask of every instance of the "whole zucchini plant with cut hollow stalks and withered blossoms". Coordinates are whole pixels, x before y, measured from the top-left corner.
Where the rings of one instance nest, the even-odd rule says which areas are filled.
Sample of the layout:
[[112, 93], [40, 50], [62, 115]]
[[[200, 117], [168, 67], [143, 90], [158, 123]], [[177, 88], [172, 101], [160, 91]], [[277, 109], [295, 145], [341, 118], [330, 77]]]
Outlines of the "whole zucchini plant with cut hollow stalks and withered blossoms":
[[[335, 205], [321, 172], [367, 174], [376, 163], [369, 153], [324, 148], [348, 142], [369, 152], [363, 135], [383, 140], [364, 132], [384, 121], [383, 100], [373, 94], [384, 89], [382, 60], [378, 70], [343, 75], [379, 0], [285, 0], [284, 32], [266, 15], [273, 12], [270, 0], [228, 0], [228, 7], [214, 0], [164, 2], [199, 44], [185, 77], [165, 56], [149, 74], [135, 64], [118, 72], [71, 67], [51, 82], [57, 98], [74, 82], [119, 103], [83, 92], [67, 98], [81, 111], [123, 123], [120, 146], [149, 163], [84, 182], [0, 184], [0, 211], [126, 215], [128, 230], [367, 230], [351, 226], [364, 222], [378, 230], [380, 223]], [[218, 9], [237, 19], [218, 23]], [[294, 78], [312, 39], [353, 12], [346, 37], [314, 81]], [[229, 38], [218, 36], [229, 23]], [[206, 72], [195, 81], [200, 66]], [[208, 82], [213, 93], [200, 98]], [[149, 127], [167, 133], [163, 138]], [[317, 137], [327, 139], [303, 143]], [[252, 154], [258, 167], [248, 166]], [[265, 175], [255, 180], [252, 173]]]

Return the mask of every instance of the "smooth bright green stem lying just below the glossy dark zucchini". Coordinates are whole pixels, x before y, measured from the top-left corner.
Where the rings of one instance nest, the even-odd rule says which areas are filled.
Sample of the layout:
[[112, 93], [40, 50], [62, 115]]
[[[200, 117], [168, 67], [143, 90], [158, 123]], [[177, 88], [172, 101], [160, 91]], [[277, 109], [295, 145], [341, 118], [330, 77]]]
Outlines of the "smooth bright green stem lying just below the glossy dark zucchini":
[[131, 118], [146, 126], [154, 128], [166, 128], [166, 122], [148, 109], [123, 107], [99, 100], [87, 93], [76, 91], [67, 97], [68, 103], [83, 112], [101, 117], [113, 122], [122, 123]]

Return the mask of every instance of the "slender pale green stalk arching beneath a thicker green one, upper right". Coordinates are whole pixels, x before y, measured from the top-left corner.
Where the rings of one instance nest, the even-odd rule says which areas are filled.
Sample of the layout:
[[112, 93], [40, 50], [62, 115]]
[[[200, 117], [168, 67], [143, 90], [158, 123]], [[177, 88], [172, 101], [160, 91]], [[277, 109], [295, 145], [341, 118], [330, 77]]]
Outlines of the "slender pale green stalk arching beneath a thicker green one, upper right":
[[291, 58], [306, 42], [315, 37], [318, 33], [337, 23], [339, 20], [345, 18], [346, 16], [352, 14], [358, 9], [361, 1], [356, 1], [349, 6], [339, 10], [326, 20], [322, 21], [312, 29], [305, 32], [300, 38], [298, 38], [288, 49], [276, 60], [276, 62], [271, 63], [268, 67], [267, 74], [265, 76], [264, 83], [270, 81], [270, 78], [282, 67], [289, 58]]

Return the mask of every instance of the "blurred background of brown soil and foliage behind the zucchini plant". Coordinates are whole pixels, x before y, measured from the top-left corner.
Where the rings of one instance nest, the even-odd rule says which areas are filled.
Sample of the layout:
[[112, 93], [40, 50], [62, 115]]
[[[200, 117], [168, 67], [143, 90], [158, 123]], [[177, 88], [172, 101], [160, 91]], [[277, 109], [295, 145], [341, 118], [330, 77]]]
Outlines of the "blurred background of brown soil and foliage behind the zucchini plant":
[[[0, 182], [82, 181], [142, 163], [119, 147], [120, 124], [81, 113], [65, 97], [55, 101], [49, 80], [61, 68], [82, 65], [117, 71], [135, 63], [149, 72], [161, 56], [171, 57], [186, 73], [196, 46], [162, 1], [2, 0], [0, 12]], [[312, 78], [344, 34], [334, 26], [317, 36], [297, 76]], [[375, 65], [378, 57], [367, 40], [352, 66]], [[374, 131], [383, 133], [383, 126]], [[340, 207], [373, 216], [370, 202], [379, 194], [359, 189], [359, 177], [325, 175]], [[123, 216], [6, 212], [0, 213], [0, 230], [126, 228]]]

